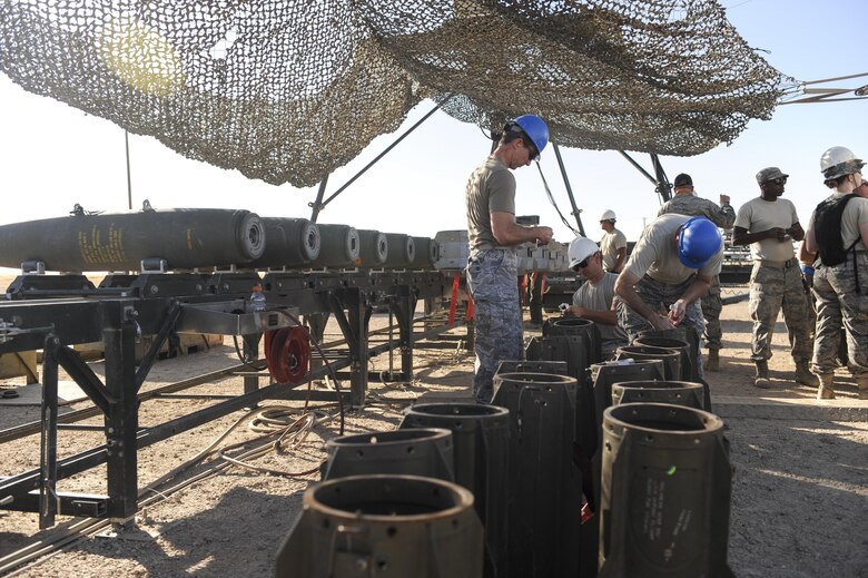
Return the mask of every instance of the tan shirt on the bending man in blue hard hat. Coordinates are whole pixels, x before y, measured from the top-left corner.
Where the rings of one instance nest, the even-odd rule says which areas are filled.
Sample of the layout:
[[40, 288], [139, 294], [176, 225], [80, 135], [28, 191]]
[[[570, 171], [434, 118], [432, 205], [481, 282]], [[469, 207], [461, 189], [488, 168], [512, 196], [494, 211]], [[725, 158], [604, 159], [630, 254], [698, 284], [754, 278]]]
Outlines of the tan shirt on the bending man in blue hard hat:
[[[675, 234], [679, 227], [691, 218], [687, 215], [669, 213], [652, 221], [639, 237], [624, 271], [639, 278], [647, 274], [654, 281], [670, 285], [687, 281], [697, 270], [685, 267], [678, 258]], [[717, 254], [699, 270], [699, 273], [713, 277], [720, 273], [722, 264], [723, 244], [721, 243]]]

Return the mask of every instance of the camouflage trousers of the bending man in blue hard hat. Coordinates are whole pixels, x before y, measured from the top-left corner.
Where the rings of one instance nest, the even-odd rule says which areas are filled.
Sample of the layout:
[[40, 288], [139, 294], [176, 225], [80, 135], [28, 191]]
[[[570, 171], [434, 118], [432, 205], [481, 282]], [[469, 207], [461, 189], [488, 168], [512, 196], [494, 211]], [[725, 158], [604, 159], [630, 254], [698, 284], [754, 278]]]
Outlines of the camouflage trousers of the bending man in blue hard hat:
[[[665, 315], [669, 313], [669, 306], [680, 300], [681, 295], [683, 295], [692, 284], [692, 276], [687, 281], [671, 285], [654, 281], [645, 275], [635, 284], [635, 292], [648, 306], [658, 313]], [[627, 332], [630, 337], [630, 343], [633, 342], [641, 331], [654, 329], [647, 319], [631, 310], [627, 303], [620, 298], [618, 300], [618, 324]], [[687, 312], [684, 313], [684, 319], [681, 321], [680, 326], [684, 327], [684, 331], [694, 331], [697, 340], [702, 335], [702, 332], [706, 330], [706, 320], [702, 319], [702, 308], [700, 307], [699, 300], [687, 306]], [[699, 376], [702, 378], [702, 352], [699, 347], [697, 347], [696, 363], [699, 369]]]

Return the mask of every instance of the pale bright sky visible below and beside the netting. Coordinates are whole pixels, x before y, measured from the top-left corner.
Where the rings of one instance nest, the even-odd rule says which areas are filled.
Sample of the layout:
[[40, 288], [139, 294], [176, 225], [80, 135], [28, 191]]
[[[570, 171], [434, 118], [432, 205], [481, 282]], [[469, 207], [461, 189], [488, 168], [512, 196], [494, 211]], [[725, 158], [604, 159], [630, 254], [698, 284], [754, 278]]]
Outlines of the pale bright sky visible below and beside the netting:
[[[868, 72], [868, 9], [865, 0], [724, 0], [730, 22], [748, 43], [781, 72], [811, 81]], [[868, 77], [827, 86], [868, 84]], [[0, 75], [0, 224], [68, 214], [75, 203], [90, 210], [127, 208], [124, 131], [62, 102], [26, 92]], [[395, 135], [375, 139], [354, 161], [336, 170], [326, 195], [355, 175], [397, 135], [432, 107], [414, 109]], [[693, 176], [700, 196], [732, 197], [739, 205], [757, 196], [754, 174], [779, 166], [790, 175], [785, 196], [793, 200], [802, 223], [828, 189], [822, 186], [819, 158], [841, 145], [868, 157], [868, 100], [779, 106], [769, 121], [753, 120], [730, 146], [696, 157], [661, 157], [673, 179]], [[437, 231], [465, 228], [464, 186], [489, 151], [489, 141], [472, 125], [437, 112], [392, 153], [338, 196], [320, 223], [357, 228], [434, 236]], [[618, 226], [635, 239], [659, 202], [653, 186], [617, 151], [562, 149], [576, 204], [590, 237], [600, 236], [599, 216], [611, 208]], [[237, 172], [189, 160], [156, 139], [130, 135], [132, 204], [154, 207], [246, 208], [263, 216], [309, 217], [316, 190], [275, 187]], [[649, 172], [648, 155], [635, 154]], [[542, 167], [561, 210], [569, 202], [553, 151]], [[516, 172], [516, 210], [540, 215], [554, 228], [555, 239], [572, 233], [549, 204], [535, 167]], [[571, 223], [573, 221], [571, 219]]]

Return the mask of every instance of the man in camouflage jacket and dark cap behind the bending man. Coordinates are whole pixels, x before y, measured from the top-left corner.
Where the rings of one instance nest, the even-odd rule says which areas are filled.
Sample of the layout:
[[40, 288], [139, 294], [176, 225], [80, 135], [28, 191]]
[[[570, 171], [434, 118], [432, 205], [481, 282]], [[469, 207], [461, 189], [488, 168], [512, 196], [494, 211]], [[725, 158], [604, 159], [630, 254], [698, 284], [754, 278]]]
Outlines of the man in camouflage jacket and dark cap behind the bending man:
[[[673, 193], [670, 200], [660, 207], [657, 216], [667, 213], [678, 213], [693, 217], [706, 217], [720, 228], [732, 228], [736, 222], [736, 209], [729, 204], [728, 195], [720, 195], [720, 206], [713, 202], [698, 197], [693, 190], [693, 179], [688, 174], [675, 177]], [[720, 329], [720, 312], [723, 311], [723, 302], [720, 300], [720, 275], [714, 275], [711, 288], [702, 297], [702, 316], [706, 319], [706, 346], [708, 347], [708, 361], [706, 369], [718, 371], [720, 363], [720, 347], [723, 332]]]

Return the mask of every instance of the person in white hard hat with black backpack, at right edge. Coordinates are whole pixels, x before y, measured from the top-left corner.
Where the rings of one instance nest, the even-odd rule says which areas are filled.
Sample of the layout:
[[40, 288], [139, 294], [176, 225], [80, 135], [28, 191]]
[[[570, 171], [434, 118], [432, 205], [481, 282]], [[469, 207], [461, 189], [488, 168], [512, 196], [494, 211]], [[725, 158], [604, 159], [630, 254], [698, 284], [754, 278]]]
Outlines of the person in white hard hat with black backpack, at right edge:
[[[820, 380], [818, 400], [835, 399], [835, 369], [838, 366], [841, 323], [847, 335], [847, 366], [856, 378], [859, 399], [868, 399], [868, 186], [862, 180], [865, 166], [851, 150], [832, 147], [820, 160], [825, 183], [835, 193], [827, 202], [844, 200], [849, 193], [857, 197], [847, 200], [839, 223], [825, 223], [840, 233], [841, 246], [847, 249], [845, 261], [834, 266], [816, 263], [813, 296], [817, 301], [817, 335], [813, 344], [811, 369]], [[823, 202], [825, 204], [826, 202]], [[802, 257], [816, 257], [823, 243], [828, 243], [827, 231], [819, 231], [817, 212], [808, 222]], [[835, 232], [832, 232], [834, 235]], [[828, 253], [827, 253], [828, 256]], [[806, 261], [810, 261], [806, 258]]]

